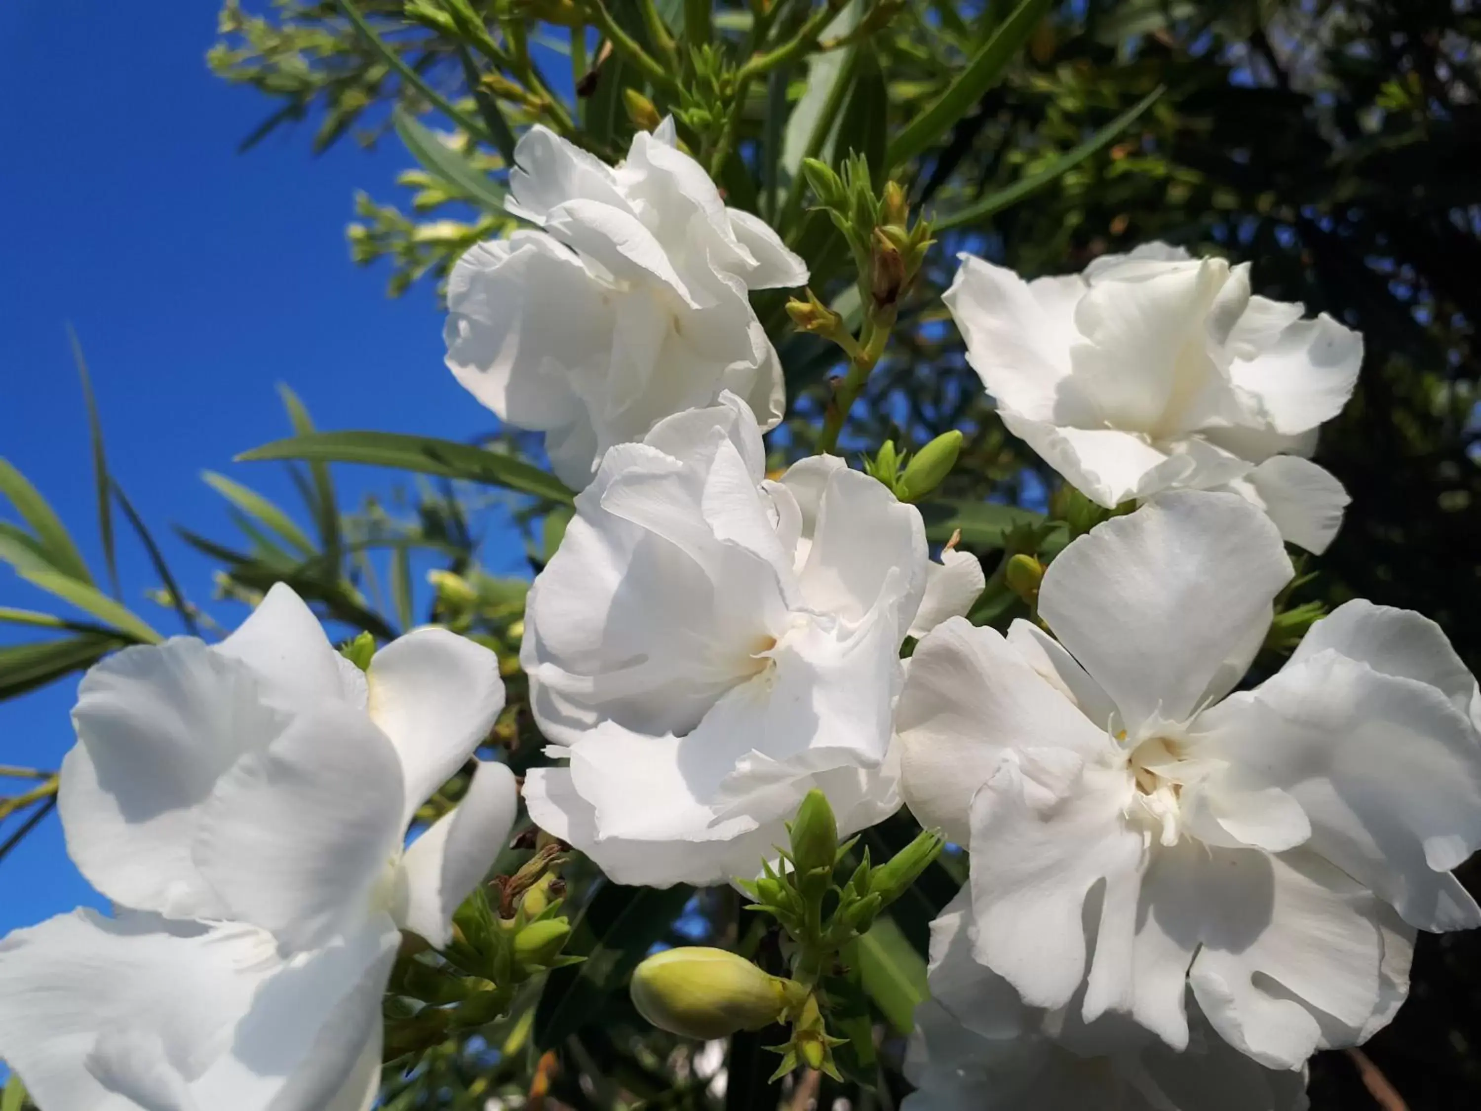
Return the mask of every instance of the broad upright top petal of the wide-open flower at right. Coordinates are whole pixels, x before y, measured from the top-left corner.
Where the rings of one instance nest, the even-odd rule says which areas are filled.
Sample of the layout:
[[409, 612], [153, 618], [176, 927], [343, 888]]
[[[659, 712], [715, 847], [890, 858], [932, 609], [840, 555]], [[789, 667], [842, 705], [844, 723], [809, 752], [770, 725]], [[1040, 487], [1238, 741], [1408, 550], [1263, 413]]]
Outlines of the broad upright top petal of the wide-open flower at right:
[[1154, 718], [1188, 720], [1290, 578], [1280, 535], [1248, 502], [1176, 492], [1065, 548], [1038, 604], [1137, 736]]

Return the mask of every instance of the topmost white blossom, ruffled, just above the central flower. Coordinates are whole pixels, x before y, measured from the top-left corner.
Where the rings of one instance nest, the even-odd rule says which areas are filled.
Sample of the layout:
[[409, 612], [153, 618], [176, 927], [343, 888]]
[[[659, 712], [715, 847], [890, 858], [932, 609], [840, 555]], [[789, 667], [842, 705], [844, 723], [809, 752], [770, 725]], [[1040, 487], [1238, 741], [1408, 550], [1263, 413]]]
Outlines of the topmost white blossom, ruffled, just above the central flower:
[[745, 397], [770, 428], [785, 391], [746, 292], [801, 286], [803, 261], [727, 209], [672, 120], [607, 166], [546, 127], [514, 150], [509, 212], [542, 231], [481, 243], [447, 283], [447, 366], [501, 419], [545, 433], [555, 474], [659, 419]]

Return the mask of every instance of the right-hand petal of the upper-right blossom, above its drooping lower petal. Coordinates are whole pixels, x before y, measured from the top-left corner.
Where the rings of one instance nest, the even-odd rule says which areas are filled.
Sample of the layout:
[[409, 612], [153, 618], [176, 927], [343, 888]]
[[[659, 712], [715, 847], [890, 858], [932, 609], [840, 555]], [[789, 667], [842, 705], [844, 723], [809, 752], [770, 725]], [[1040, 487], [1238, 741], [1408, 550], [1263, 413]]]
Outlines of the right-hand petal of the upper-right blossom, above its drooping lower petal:
[[[1243, 332], [1237, 339], [1247, 336]], [[1342, 412], [1363, 366], [1361, 333], [1323, 313], [1288, 323], [1268, 344], [1251, 358], [1237, 360], [1229, 375], [1256, 398], [1274, 431], [1303, 433]]]

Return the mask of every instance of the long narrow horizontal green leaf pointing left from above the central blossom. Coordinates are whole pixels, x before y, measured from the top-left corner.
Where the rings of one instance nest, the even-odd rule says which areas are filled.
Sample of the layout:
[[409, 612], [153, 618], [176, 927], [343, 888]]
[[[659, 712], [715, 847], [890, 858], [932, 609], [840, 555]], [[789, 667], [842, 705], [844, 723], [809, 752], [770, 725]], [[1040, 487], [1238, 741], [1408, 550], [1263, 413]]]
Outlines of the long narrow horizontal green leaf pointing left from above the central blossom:
[[569, 505], [576, 495], [548, 471], [512, 455], [499, 455], [453, 440], [403, 433], [312, 433], [277, 440], [237, 456], [240, 462], [264, 459], [321, 459], [395, 467], [418, 474], [440, 474], [484, 486], [504, 486], [520, 493]]

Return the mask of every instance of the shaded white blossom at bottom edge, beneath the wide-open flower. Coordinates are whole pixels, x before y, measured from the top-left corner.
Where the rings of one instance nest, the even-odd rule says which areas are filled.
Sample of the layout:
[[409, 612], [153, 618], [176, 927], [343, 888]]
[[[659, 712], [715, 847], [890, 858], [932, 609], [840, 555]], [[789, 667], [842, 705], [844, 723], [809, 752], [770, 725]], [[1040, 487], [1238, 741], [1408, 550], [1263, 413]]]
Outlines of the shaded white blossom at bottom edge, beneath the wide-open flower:
[[1302, 1071], [1271, 1070], [1197, 1012], [1179, 1053], [1121, 1015], [1028, 1007], [972, 955], [966, 889], [930, 927], [932, 997], [915, 1009], [903, 1111], [1303, 1111]]

